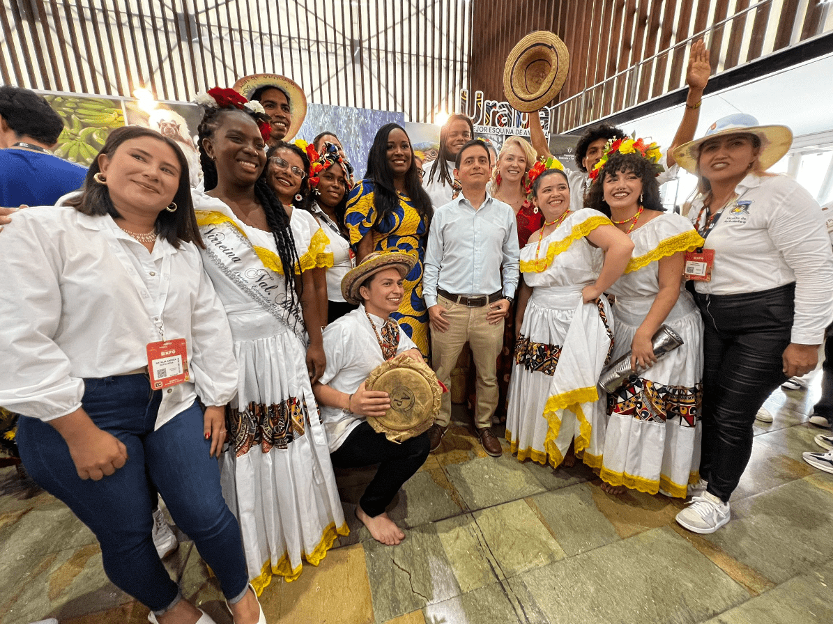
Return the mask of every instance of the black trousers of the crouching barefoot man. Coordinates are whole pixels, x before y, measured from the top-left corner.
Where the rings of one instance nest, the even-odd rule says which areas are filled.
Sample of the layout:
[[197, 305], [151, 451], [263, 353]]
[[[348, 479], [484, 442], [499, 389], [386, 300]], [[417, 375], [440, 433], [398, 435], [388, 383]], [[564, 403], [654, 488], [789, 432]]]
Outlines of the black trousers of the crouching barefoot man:
[[330, 458], [336, 468], [361, 468], [379, 464], [376, 476], [368, 483], [359, 499], [364, 512], [376, 518], [391, 504], [402, 484], [412, 478], [425, 463], [430, 450], [428, 432], [397, 444], [387, 439], [384, 433], [377, 433], [369, 424], [362, 423], [350, 432], [335, 453], [330, 454]]

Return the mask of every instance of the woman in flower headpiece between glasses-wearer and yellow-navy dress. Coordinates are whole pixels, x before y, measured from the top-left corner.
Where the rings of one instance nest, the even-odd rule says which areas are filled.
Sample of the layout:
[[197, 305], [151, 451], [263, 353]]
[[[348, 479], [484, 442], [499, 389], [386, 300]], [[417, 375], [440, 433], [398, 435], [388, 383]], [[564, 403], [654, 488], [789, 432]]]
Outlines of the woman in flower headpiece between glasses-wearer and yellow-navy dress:
[[356, 255], [350, 248], [350, 233], [344, 225], [347, 192], [353, 187], [353, 176], [338, 146], [324, 142], [321, 151], [317, 151], [312, 145], [304, 143], [302, 146], [300, 141], [297, 142], [307, 152], [311, 163], [312, 201], [308, 206], [330, 240], [326, 249], [332, 254], [332, 266], [327, 268], [327, 324], [330, 324], [357, 308], [357, 305], [347, 303], [342, 295], [342, 277], [356, 265]]

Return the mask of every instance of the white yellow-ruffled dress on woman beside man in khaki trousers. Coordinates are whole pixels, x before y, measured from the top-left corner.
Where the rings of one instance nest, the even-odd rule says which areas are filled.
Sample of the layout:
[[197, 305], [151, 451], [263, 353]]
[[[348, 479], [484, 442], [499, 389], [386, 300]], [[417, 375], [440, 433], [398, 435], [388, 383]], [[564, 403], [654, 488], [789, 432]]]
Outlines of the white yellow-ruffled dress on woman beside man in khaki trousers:
[[509, 383], [506, 439], [519, 460], [556, 468], [575, 439], [576, 456], [601, 464], [605, 401], [596, 383], [611, 356], [613, 324], [606, 297], [583, 303], [604, 257], [585, 238], [611, 225], [601, 212], [568, 215], [541, 240], [521, 250], [521, 275], [532, 295], [526, 304]]

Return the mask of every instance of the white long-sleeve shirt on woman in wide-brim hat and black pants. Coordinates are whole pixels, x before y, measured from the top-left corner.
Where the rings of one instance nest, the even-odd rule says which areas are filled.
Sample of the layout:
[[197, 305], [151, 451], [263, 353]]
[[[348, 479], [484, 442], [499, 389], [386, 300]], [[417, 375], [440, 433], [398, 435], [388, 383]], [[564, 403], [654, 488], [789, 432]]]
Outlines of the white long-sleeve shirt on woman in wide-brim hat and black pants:
[[[747, 175], [706, 238], [715, 250], [711, 281], [696, 281], [704, 295], [740, 295], [796, 282], [796, 316], [791, 340], [821, 344], [833, 321], [833, 251], [821, 208], [803, 186], [787, 176]], [[703, 197], [691, 205], [698, 221]]]

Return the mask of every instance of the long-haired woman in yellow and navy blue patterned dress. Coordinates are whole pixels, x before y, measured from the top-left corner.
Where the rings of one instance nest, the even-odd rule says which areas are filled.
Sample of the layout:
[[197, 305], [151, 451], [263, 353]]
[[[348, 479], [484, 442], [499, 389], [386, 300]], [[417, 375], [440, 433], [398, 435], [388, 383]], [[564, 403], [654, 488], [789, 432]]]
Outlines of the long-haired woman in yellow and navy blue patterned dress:
[[396, 123], [382, 126], [367, 156], [365, 179], [350, 191], [345, 220], [359, 262], [372, 251], [392, 249], [419, 258], [405, 276], [405, 296], [391, 318], [426, 359], [428, 310], [422, 299], [422, 262], [433, 214], [431, 198], [422, 189], [416, 173], [413, 148], [405, 129]]

